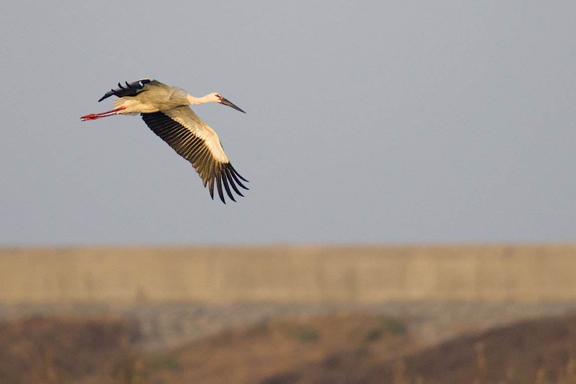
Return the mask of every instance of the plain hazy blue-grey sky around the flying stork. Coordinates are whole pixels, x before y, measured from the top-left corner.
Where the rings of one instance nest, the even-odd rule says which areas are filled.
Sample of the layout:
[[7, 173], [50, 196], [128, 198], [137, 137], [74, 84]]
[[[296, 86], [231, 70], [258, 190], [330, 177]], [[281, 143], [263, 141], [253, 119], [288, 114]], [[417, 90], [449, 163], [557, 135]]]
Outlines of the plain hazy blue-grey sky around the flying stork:
[[[576, 241], [576, 2], [10, 1], [0, 245]], [[250, 180], [210, 199], [149, 77]]]

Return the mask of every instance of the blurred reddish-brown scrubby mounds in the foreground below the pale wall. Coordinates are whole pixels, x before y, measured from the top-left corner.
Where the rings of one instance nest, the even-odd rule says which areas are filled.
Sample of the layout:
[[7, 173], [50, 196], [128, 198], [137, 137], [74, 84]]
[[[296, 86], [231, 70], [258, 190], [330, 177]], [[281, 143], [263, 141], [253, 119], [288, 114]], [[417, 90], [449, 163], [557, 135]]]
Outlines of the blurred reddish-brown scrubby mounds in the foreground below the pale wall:
[[121, 318], [0, 323], [0, 383], [574, 383], [576, 316], [422, 349], [377, 314], [284, 317], [170, 351], [142, 352]]

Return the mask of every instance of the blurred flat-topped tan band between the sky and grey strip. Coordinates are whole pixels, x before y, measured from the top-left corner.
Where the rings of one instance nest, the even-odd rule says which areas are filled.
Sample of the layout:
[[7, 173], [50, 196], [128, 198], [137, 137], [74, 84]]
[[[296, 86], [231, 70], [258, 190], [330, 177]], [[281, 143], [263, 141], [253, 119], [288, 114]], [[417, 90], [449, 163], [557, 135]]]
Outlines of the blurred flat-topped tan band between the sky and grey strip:
[[576, 300], [576, 244], [0, 249], [0, 304]]

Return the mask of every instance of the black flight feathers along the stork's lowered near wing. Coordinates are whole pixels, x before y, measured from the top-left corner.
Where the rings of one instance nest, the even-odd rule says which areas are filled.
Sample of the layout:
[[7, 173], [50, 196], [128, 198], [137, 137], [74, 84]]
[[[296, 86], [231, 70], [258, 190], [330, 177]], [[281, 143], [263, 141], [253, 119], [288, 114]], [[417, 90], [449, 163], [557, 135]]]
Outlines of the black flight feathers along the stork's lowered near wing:
[[242, 196], [242, 194], [238, 191], [234, 182], [242, 188], [248, 189], [242, 185], [236, 176], [246, 182], [248, 180], [242, 178], [242, 176], [234, 170], [230, 162], [221, 163], [216, 160], [206, 143], [179, 122], [169, 118], [169, 116], [166, 116], [162, 112], [141, 114], [141, 116], [146, 125], [149, 126], [158, 137], [167, 142], [180, 156], [192, 163], [196, 172], [198, 172], [200, 178], [202, 178], [204, 187], [208, 185], [211, 198], [214, 199], [214, 181], [216, 182], [218, 195], [224, 204], [226, 204], [226, 201], [224, 199], [222, 183], [224, 183], [226, 194], [228, 194], [232, 201], [236, 200], [232, 195], [232, 191], [230, 191], [228, 182], [230, 182], [232, 189], [240, 196]]

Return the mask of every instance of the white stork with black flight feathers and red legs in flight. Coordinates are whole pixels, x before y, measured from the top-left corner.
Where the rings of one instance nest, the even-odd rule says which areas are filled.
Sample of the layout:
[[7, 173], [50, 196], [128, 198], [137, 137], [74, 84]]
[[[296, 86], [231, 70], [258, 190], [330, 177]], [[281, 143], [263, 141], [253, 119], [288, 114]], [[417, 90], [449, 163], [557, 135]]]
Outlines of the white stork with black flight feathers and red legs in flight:
[[[230, 187], [240, 196], [236, 184], [248, 189], [239, 179], [244, 179], [224, 154], [218, 135], [206, 125], [192, 110], [190, 105], [202, 103], [220, 103], [242, 111], [230, 101], [224, 99], [218, 93], [210, 93], [204, 97], [188, 95], [183, 89], [168, 86], [156, 80], [143, 78], [131, 82], [126, 86], [118, 83], [118, 89], [112, 89], [101, 97], [99, 101], [112, 95], [118, 98], [114, 100], [114, 109], [101, 114], [82, 116], [82, 121], [100, 119], [113, 115], [137, 115], [142, 116], [143, 121], [162, 140], [168, 143], [180, 156], [190, 161], [196, 172], [204, 182], [204, 187], [209, 186], [210, 196], [214, 199], [214, 180], [218, 189], [218, 195], [224, 204], [224, 194], [236, 201], [230, 191]], [[244, 112], [246, 113], [246, 112]]]

